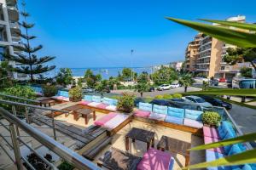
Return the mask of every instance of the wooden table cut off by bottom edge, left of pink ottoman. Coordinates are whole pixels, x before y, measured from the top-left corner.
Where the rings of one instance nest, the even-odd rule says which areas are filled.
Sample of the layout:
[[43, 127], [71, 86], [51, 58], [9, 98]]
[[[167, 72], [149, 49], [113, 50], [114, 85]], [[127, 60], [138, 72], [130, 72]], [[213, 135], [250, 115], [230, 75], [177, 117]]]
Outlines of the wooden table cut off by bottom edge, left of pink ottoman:
[[111, 148], [99, 158], [97, 165], [111, 170], [136, 170], [141, 159], [122, 150]]

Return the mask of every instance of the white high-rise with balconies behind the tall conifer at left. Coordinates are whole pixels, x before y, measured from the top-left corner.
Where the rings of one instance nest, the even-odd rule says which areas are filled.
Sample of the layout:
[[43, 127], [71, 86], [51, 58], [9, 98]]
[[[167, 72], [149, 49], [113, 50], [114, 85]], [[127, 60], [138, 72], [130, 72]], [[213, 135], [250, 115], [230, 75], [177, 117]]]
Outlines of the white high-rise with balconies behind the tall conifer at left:
[[[2, 53], [19, 54], [20, 50], [13, 45], [20, 44], [19, 11], [16, 0], [0, 0], [0, 62], [3, 61]], [[19, 64], [10, 62], [10, 65]], [[23, 74], [14, 74], [14, 78], [26, 78]]]

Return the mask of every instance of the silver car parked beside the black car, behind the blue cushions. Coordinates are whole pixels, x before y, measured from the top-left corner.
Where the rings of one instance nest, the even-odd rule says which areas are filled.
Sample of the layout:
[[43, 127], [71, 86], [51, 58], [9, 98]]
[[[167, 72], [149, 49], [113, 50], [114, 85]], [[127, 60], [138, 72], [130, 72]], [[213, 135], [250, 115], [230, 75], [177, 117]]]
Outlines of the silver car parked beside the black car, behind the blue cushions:
[[197, 110], [199, 111], [206, 111], [212, 109], [212, 104], [208, 103], [206, 100], [201, 99], [201, 97], [198, 96], [186, 96], [183, 97], [183, 99], [187, 100], [188, 102], [195, 103], [197, 106]]

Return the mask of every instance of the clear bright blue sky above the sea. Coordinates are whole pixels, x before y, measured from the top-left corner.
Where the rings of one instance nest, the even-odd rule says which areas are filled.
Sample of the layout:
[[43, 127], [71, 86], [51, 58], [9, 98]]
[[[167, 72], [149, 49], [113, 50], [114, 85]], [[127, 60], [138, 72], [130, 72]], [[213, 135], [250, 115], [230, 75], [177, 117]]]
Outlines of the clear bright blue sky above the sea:
[[[20, 0], [21, 1], [21, 0]], [[69, 3], [72, 2], [72, 3]], [[43, 44], [38, 55], [53, 55], [57, 67], [116, 67], [165, 64], [184, 59], [196, 31], [166, 20], [224, 20], [244, 14], [256, 22], [256, 1], [26, 0]], [[131, 49], [134, 53], [131, 56]]]

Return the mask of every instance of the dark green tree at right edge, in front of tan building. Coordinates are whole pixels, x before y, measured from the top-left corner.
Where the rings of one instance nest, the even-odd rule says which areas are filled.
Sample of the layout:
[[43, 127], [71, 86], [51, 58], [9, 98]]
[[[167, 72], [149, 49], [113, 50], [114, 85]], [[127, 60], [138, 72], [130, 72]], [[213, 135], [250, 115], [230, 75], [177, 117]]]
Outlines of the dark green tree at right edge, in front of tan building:
[[236, 65], [238, 62], [249, 62], [256, 71], [256, 48], [228, 48], [224, 61], [229, 65]]

